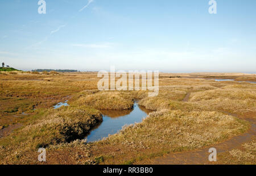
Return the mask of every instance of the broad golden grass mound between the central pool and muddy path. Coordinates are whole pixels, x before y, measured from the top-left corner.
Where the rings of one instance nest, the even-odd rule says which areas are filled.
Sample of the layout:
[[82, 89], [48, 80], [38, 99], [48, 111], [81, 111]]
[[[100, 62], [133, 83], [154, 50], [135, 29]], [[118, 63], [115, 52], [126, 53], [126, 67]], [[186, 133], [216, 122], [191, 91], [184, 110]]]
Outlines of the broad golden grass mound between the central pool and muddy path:
[[[101, 164], [139, 164], [163, 154], [216, 144], [245, 132], [248, 126], [216, 111], [160, 110], [152, 112], [142, 123], [126, 126], [105, 140], [86, 144], [90, 154], [79, 162], [93, 164], [101, 156], [104, 157]], [[78, 153], [82, 150], [81, 146], [73, 149]]]

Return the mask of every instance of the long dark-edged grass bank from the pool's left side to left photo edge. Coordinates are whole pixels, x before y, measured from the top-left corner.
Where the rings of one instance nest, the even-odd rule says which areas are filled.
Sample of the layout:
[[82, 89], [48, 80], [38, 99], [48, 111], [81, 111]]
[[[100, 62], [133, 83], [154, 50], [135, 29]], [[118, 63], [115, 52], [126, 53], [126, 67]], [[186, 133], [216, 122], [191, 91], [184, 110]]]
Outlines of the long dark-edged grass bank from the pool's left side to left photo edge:
[[48, 110], [26, 127], [0, 139], [0, 158], [6, 157], [5, 162], [15, 163], [22, 160], [22, 157], [19, 157], [18, 161], [15, 160], [17, 155], [11, 152], [13, 150], [19, 150], [19, 156], [26, 156], [26, 153], [38, 148], [84, 139], [101, 121], [102, 115], [99, 111], [83, 106]]

